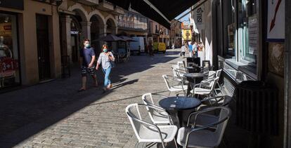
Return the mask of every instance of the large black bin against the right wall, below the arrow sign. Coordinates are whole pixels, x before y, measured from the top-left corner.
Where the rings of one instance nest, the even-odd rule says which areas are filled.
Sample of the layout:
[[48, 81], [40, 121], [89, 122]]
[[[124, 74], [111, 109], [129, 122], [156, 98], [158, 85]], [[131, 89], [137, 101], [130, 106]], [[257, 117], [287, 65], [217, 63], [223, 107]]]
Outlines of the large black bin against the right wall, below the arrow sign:
[[236, 123], [258, 135], [278, 135], [278, 93], [263, 81], [243, 81], [235, 88]]

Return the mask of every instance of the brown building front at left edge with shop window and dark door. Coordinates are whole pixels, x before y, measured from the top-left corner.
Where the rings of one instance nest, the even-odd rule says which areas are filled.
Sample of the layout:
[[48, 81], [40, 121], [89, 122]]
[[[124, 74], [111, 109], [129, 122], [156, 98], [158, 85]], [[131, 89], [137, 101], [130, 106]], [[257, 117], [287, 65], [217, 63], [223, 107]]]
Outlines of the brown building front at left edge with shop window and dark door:
[[0, 90], [60, 77], [58, 4], [1, 1]]

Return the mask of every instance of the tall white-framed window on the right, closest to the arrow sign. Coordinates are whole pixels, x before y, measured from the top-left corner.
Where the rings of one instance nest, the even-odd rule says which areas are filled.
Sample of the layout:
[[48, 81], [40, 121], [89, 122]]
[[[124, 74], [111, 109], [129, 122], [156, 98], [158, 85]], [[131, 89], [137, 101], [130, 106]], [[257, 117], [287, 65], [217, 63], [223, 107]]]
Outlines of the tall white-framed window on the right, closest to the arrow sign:
[[259, 42], [257, 0], [240, 0], [238, 11], [238, 48], [240, 61], [256, 64]]

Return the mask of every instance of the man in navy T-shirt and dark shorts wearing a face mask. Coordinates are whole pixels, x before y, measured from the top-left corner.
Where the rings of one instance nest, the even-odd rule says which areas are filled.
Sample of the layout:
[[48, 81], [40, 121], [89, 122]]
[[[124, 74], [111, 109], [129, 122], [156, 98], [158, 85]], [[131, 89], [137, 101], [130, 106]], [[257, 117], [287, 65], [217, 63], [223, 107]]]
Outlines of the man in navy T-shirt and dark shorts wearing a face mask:
[[84, 48], [80, 49], [80, 64], [82, 69], [82, 88], [79, 91], [86, 90], [86, 75], [89, 74], [94, 81], [94, 85], [97, 87], [98, 82], [95, 74], [95, 52], [90, 46], [90, 40], [84, 39]]

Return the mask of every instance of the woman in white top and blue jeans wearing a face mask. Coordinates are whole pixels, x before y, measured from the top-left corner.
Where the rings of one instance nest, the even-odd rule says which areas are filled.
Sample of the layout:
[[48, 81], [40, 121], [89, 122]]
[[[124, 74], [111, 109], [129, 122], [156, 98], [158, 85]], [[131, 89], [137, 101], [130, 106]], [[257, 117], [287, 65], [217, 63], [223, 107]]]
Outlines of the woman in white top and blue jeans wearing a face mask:
[[110, 72], [112, 69], [111, 62], [114, 62], [114, 61], [115, 61], [115, 58], [113, 54], [110, 51], [108, 51], [108, 46], [104, 44], [102, 46], [102, 53], [100, 53], [99, 55], [99, 58], [97, 60], [97, 66], [96, 66], [96, 70], [98, 70], [99, 65], [102, 64], [102, 70], [105, 74], [104, 86], [103, 86], [104, 91], [112, 87], [112, 84], [110, 81]]

